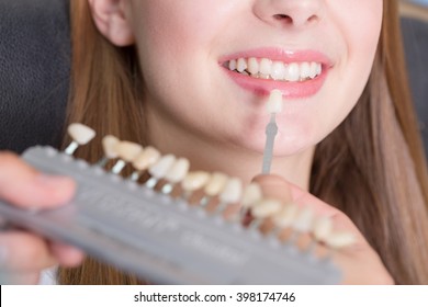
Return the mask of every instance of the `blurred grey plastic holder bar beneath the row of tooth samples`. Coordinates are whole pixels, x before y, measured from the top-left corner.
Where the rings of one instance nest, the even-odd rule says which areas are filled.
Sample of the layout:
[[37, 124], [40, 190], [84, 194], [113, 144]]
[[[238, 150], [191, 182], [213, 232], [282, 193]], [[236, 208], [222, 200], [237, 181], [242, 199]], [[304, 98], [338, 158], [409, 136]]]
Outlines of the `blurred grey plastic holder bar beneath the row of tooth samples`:
[[[167, 274], [170, 275], [169, 280], [164, 280], [165, 284], [180, 283], [180, 281], [185, 284], [192, 284], [194, 280], [207, 281], [206, 284], [211, 284], [215, 283], [216, 281], [218, 283], [218, 280], [216, 280], [217, 277], [222, 277], [221, 283], [222, 281], [225, 281], [222, 284], [229, 284], [234, 281], [244, 281], [250, 284], [255, 284], [257, 283], [258, 278], [263, 277], [268, 278], [262, 280], [264, 282], [263, 284], [271, 284], [270, 282], [275, 282], [275, 280], [278, 284], [293, 284], [293, 277], [288, 277], [290, 274], [295, 276], [294, 278], [296, 280], [299, 280], [303, 275], [314, 277], [313, 280], [315, 281], [319, 281], [319, 278], [322, 278], [320, 281], [328, 283], [328, 278], [325, 278], [325, 276], [331, 275], [335, 283], [336, 281], [340, 281], [338, 274], [339, 271], [336, 270], [334, 265], [331, 265], [329, 260], [313, 261], [313, 257], [308, 254], [308, 252], [304, 251], [303, 253], [294, 253], [295, 248], [293, 248], [292, 245], [288, 243], [274, 247], [273, 245], [278, 245], [277, 241], [272, 242], [269, 237], [262, 238], [259, 232], [256, 234], [252, 230], [247, 231], [245, 229], [241, 229], [237, 225], [228, 225], [228, 223], [222, 221], [223, 219], [219, 216], [204, 217], [203, 211], [192, 211], [191, 208], [187, 208], [187, 204], [182, 202], [176, 203], [173, 201], [169, 201], [168, 195], [159, 195], [159, 193], [156, 193], [154, 191], [147, 191], [146, 189], [138, 190], [136, 184], [128, 184], [128, 182], [122, 180], [111, 181], [111, 178], [117, 179], [117, 177], [105, 174], [104, 172], [102, 172], [102, 170], [100, 170], [101, 174], [104, 174], [105, 177], [100, 177], [100, 174], [95, 174], [93, 172], [93, 168], [98, 168], [97, 166], [91, 167], [88, 164], [85, 169], [82, 167], [82, 163], [80, 163], [78, 160], [72, 159], [71, 157], [66, 157], [60, 152], [58, 152], [58, 155], [46, 155], [48, 154], [46, 149], [48, 148], [37, 147], [35, 149], [30, 149], [26, 151], [24, 159], [29, 162], [35, 161], [36, 164], [33, 166], [41, 169], [42, 171], [57, 170], [61, 174], [75, 175], [79, 189], [77, 189], [78, 194], [77, 197], [74, 200], [74, 204], [76, 205], [74, 206], [74, 204], [70, 204], [71, 208], [77, 209], [77, 214], [79, 214], [79, 217], [85, 217], [85, 214], [90, 213], [89, 211], [83, 212], [79, 209], [83, 207], [88, 209], [94, 209], [91, 211], [91, 215], [87, 215], [90, 218], [94, 218], [93, 225], [88, 225], [87, 223], [80, 224], [80, 220], [78, 218], [75, 218], [75, 215], [67, 215], [68, 218], [71, 218], [66, 220], [67, 223], [58, 223], [58, 220], [63, 219], [57, 218], [60, 217], [60, 215], [56, 215], [57, 211], [47, 212], [47, 214], [42, 212], [41, 215], [38, 215], [38, 213], [34, 215], [32, 214], [32, 219], [35, 218], [36, 225], [40, 226], [31, 226], [30, 224], [27, 226], [34, 227], [34, 231], [46, 234], [49, 239], [54, 239], [55, 236], [59, 236], [58, 239], [65, 239], [66, 241], [67, 238], [68, 240], [72, 239], [74, 242], [76, 242], [83, 249], [85, 247], [91, 247], [91, 249], [88, 248], [87, 250], [87, 252], [91, 253], [91, 255], [97, 257], [98, 253], [106, 254], [108, 257], [115, 257], [112, 258], [112, 260], [110, 261], [108, 261], [108, 259], [104, 260], [112, 265], [117, 264], [123, 270], [138, 273], [143, 276], [144, 274], [146, 274], [145, 272], [150, 270], [150, 268], [154, 268], [153, 263], [155, 263], [155, 266], [159, 265], [158, 268], [161, 268], [162, 275], [165, 275], [165, 272], [167, 272], [168, 266], [170, 266], [171, 264], [173, 268], [171, 269], [171, 272], [167, 272]], [[61, 172], [61, 170], [64, 170], [64, 172]], [[128, 187], [132, 189], [132, 191], [128, 190]], [[98, 193], [86, 194], [87, 192]], [[91, 197], [85, 197], [85, 202], [81, 202], [81, 196], [83, 195], [81, 193], [83, 193], [85, 196]], [[97, 208], [105, 208], [104, 202], [98, 202], [100, 200], [100, 195], [104, 196], [104, 200], [106, 201], [112, 200], [112, 206], [109, 206], [108, 211], [97, 211]], [[93, 202], [91, 202], [89, 198], [93, 200]], [[12, 212], [10, 209], [13, 209], [13, 206], [3, 203], [0, 205], [0, 207], [2, 208], [2, 216], [3, 213], [5, 215], [7, 213]], [[114, 208], [116, 208], [116, 211], [112, 211]], [[168, 223], [168, 218], [173, 216], [176, 219], [171, 220], [172, 224], [177, 223], [178, 226], [185, 225], [187, 227], [171, 228], [171, 230], [173, 231], [167, 231], [168, 237], [165, 238], [164, 236], [167, 235], [166, 231], [150, 232], [150, 230], [154, 230], [153, 228], [148, 229], [146, 224], [144, 224], [146, 226], [143, 226], [142, 223], [145, 221], [138, 218], [138, 214], [132, 214], [134, 209], [137, 213], [153, 213], [153, 215], [150, 215], [149, 217], [153, 216], [155, 217], [155, 219], [157, 219], [156, 216], [158, 216], [160, 217], [159, 220], [161, 223], [165, 221], [166, 224]], [[12, 213], [23, 214], [22, 211], [18, 209], [13, 211]], [[224, 214], [226, 215], [225, 212]], [[9, 216], [12, 218], [11, 214]], [[22, 216], [25, 218], [27, 217], [26, 215]], [[143, 214], [143, 216], [146, 215]], [[102, 217], [105, 217], [105, 219], [102, 219]], [[146, 221], [148, 220], [146, 219]], [[268, 223], [267, 220], [262, 221], [263, 226]], [[13, 220], [13, 223], [14, 225], [20, 226], [26, 225], [26, 221], [24, 220], [19, 221], [16, 219]], [[151, 218], [149, 223], [151, 223]], [[203, 237], [207, 239], [209, 243], [213, 242], [213, 240], [219, 240], [218, 242], [222, 243], [222, 248], [226, 247], [230, 248], [230, 250], [235, 250], [236, 248], [236, 250], [239, 253], [243, 253], [245, 258], [235, 258], [237, 261], [234, 264], [236, 265], [229, 265], [229, 263], [225, 264], [225, 261], [223, 260], [215, 261], [215, 257], [206, 259], [206, 254], [204, 255], [199, 252], [194, 252], [192, 249], [187, 249], [183, 245], [180, 245], [180, 238], [183, 238], [183, 235], [185, 236], [185, 234], [189, 234], [189, 231], [195, 235], [199, 234], [199, 231], [201, 230], [201, 223], [204, 224], [205, 229]], [[48, 225], [48, 227], [46, 228], [45, 225]], [[35, 227], [40, 228], [36, 229]], [[92, 227], [97, 230], [94, 230]], [[67, 232], [64, 229], [66, 229]], [[133, 229], [135, 231], [132, 231]], [[85, 236], [79, 235], [82, 234], [82, 231], [85, 231]], [[114, 234], [114, 236], [112, 234]], [[121, 236], [121, 234], [124, 236]], [[142, 247], [133, 245], [135, 240], [129, 240], [129, 238], [133, 238], [134, 236], [135, 238], [142, 238], [143, 241], [150, 241], [154, 243], [159, 242], [159, 247], [164, 247], [164, 249], [154, 254], [154, 257], [150, 257], [149, 260], [146, 262], [144, 253], [140, 252]], [[101, 245], [102, 242], [114, 242], [114, 245], [105, 246]], [[157, 246], [154, 246], [154, 249], [151, 251], [156, 252], [156, 247]], [[117, 249], [120, 251], [123, 250], [123, 252], [117, 253]], [[135, 250], [135, 252], [132, 253], [131, 257], [127, 257], [128, 253], [132, 252], [132, 250]], [[162, 252], [165, 250], [169, 250], [171, 252]], [[184, 252], [182, 254], [183, 257], [177, 258], [177, 254], [174, 253], [176, 250]], [[215, 252], [216, 250], [213, 249], [212, 251]], [[140, 257], [138, 257], [138, 253]], [[133, 261], [132, 259], [135, 260], [135, 265], [132, 264], [132, 268], [121, 266], [121, 263], [128, 263]], [[250, 262], [243, 263], [241, 260], [247, 261], [247, 259]], [[290, 263], [288, 260], [290, 260], [293, 264], [286, 265], [286, 263]], [[204, 270], [193, 271], [193, 269], [195, 268], [194, 263], [201, 264], [200, 269]], [[161, 266], [162, 264], [165, 266]], [[248, 264], [248, 266], [246, 264]], [[246, 265], [245, 268], [252, 269], [258, 269], [260, 266], [261, 269], [259, 268], [260, 270], [256, 271], [251, 270], [251, 272], [255, 274], [249, 273], [248, 275], [246, 275], [248, 271], [241, 270], [244, 268], [243, 265]], [[330, 270], [330, 268], [333, 268], [333, 271]], [[164, 271], [164, 269], [166, 271]], [[180, 272], [189, 272], [190, 270], [190, 272], [192, 272], [192, 275], [193, 272], [194, 274], [196, 274], [198, 278], [189, 278], [189, 280], [184, 280], [184, 274], [182, 274], [182, 277], [180, 274], [180, 277], [177, 278], [177, 275], [173, 275], [177, 273], [176, 269], [182, 269]], [[198, 268], [195, 270], [198, 270]], [[218, 274], [218, 272], [226, 272], [227, 274]], [[225, 275], [230, 275], [232, 277], [228, 278]], [[250, 275], [256, 275], [256, 278], [251, 280]], [[160, 275], [153, 276], [153, 280], [161, 277]], [[174, 276], [176, 280], [173, 280]], [[210, 276], [210, 278], [205, 280], [205, 276]], [[226, 280], [223, 280], [224, 276]], [[273, 276], [273, 278], [271, 278], [270, 276]], [[282, 278], [284, 276], [288, 277], [288, 283], [281, 282], [283, 281]], [[328, 284], [331, 284], [331, 282]]]

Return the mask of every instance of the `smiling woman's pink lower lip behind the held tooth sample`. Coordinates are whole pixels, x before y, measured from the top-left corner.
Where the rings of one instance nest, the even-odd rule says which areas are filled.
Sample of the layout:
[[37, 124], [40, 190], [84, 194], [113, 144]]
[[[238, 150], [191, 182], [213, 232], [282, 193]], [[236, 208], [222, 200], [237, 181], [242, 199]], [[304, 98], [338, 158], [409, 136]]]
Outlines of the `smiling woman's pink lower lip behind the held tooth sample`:
[[322, 75], [312, 80], [303, 82], [286, 82], [252, 78], [236, 71], [224, 68], [227, 75], [243, 89], [251, 91], [257, 95], [269, 95], [272, 90], [280, 90], [284, 98], [303, 99], [316, 94], [327, 78], [327, 69], [323, 68]]

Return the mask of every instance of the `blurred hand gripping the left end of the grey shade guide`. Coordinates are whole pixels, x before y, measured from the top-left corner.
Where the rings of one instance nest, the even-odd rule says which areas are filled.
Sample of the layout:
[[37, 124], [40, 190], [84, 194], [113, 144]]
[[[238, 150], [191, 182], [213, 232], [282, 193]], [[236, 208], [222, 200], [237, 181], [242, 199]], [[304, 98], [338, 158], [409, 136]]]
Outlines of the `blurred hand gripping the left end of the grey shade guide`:
[[[74, 193], [72, 180], [42, 174], [14, 154], [0, 152], [0, 198], [22, 208], [52, 208], [69, 201]], [[4, 220], [0, 217], [1, 224]], [[32, 232], [0, 230], [1, 284], [37, 284], [42, 270], [78, 265], [82, 258], [81, 251]]]

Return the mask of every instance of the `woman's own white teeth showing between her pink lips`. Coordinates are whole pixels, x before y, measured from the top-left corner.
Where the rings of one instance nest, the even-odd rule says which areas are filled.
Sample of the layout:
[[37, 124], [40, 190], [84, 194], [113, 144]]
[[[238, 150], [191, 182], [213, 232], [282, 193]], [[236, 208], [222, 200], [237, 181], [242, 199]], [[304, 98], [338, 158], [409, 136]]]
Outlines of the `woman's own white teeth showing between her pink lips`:
[[315, 79], [323, 71], [323, 65], [315, 61], [289, 62], [272, 61], [268, 58], [239, 58], [228, 62], [228, 69], [255, 78], [275, 81], [305, 81]]

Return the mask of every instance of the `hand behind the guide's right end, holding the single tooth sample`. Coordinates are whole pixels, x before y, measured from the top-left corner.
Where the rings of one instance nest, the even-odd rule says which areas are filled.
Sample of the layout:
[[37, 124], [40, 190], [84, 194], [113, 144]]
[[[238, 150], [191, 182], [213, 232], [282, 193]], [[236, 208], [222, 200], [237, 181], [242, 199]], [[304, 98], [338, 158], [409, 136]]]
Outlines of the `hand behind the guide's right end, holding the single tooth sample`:
[[343, 284], [394, 284], [379, 254], [342, 212], [279, 175], [258, 175], [254, 179], [254, 182], [261, 186], [264, 196], [286, 203], [291, 198], [297, 205], [308, 206], [316, 215], [330, 217], [335, 229], [348, 231], [354, 236], [354, 243], [351, 247], [333, 253], [334, 262], [343, 273]]

